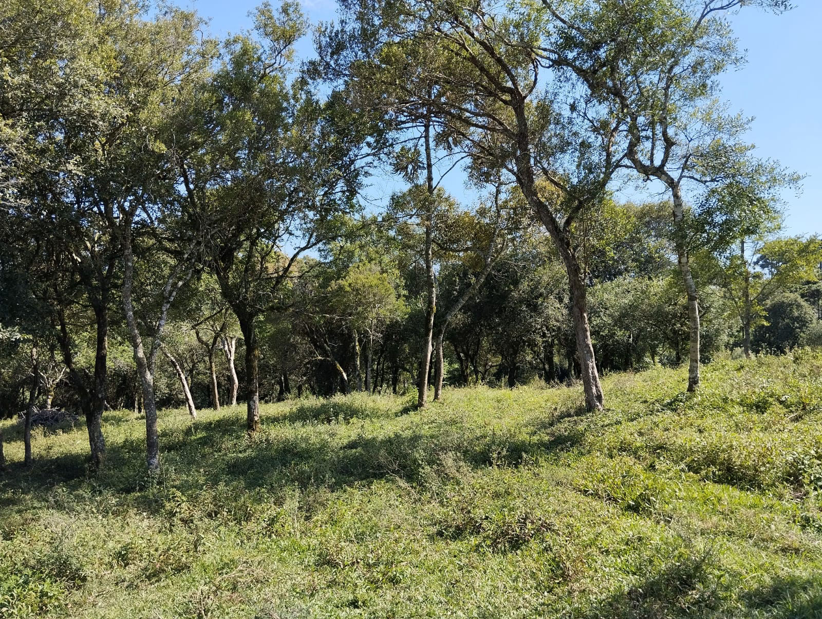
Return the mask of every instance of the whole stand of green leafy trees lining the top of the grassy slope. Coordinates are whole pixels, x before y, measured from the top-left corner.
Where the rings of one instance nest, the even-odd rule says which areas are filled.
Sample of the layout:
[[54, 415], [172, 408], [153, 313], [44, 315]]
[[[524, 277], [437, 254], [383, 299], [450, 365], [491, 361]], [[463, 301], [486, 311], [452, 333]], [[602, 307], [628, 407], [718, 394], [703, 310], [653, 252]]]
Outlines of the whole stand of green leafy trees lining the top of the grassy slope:
[[[822, 344], [801, 175], [718, 77], [786, 2], [141, 2], [2, 12], [2, 413], [584, 388]], [[313, 54], [298, 54], [313, 43]], [[301, 49], [302, 49], [301, 47]], [[446, 189], [447, 187], [447, 189]], [[625, 199], [628, 196], [630, 199]], [[30, 449], [26, 451], [29, 459]]]

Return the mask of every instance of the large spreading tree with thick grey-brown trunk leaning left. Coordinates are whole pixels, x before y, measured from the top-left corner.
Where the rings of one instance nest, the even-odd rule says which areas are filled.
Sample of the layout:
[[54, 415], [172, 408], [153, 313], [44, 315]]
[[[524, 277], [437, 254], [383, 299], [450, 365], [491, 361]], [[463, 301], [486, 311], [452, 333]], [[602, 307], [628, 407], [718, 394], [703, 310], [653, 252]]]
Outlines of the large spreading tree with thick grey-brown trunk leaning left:
[[[550, 21], [534, 4], [506, 14], [483, 2], [346, 6], [355, 14], [352, 36], [372, 37], [372, 63], [424, 72], [436, 84], [436, 91], [421, 92], [415, 81], [395, 81], [407, 100], [437, 119], [441, 140], [470, 157], [478, 179], [504, 170], [546, 226], [568, 272], [586, 406], [601, 408], [575, 235], [580, 215], [602, 202], [624, 158], [623, 121], [573, 86], [545, 79]], [[438, 50], [436, 62], [427, 49]], [[359, 58], [354, 68], [367, 79], [369, 66]], [[569, 104], [567, 111], [557, 100]]]

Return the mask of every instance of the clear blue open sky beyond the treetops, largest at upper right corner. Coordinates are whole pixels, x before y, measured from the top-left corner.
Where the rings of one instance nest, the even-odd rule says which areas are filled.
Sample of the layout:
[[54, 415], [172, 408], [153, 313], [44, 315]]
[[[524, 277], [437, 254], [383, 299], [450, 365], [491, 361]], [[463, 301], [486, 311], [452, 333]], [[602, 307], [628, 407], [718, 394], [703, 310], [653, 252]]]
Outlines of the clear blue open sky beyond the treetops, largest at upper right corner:
[[[216, 35], [248, 27], [247, 14], [258, 3], [180, 0], [182, 6], [210, 17]], [[759, 156], [807, 175], [798, 196], [793, 191], [784, 196], [787, 231], [807, 235], [822, 233], [822, 54], [818, 44], [822, 2], [794, 3], [798, 6], [781, 16], [755, 8], [733, 16], [748, 63], [723, 76], [723, 95], [732, 108], [755, 117], [749, 141], [756, 144]], [[302, 5], [312, 21], [335, 16], [336, 5], [330, 0], [303, 0]], [[453, 191], [454, 184], [449, 188]]]

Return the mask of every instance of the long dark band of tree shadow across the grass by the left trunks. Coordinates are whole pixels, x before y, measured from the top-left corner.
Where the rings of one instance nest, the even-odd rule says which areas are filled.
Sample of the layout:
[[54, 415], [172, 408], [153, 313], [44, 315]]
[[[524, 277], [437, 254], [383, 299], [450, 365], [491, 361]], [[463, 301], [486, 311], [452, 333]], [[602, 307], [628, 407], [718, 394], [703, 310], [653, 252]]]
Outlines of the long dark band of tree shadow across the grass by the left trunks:
[[[244, 418], [233, 415], [167, 427], [160, 433], [160, 456], [168, 472], [156, 483], [184, 495], [220, 484], [276, 492], [293, 487], [338, 490], [391, 477], [422, 483], [446, 460], [466, 468], [519, 467], [552, 451], [572, 449], [584, 436], [572, 424], [552, 431], [547, 421], [503, 430], [475, 427], [470, 420], [452, 423], [439, 420], [434, 407], [415, 418], [403, 404], [386, 407], [384, 401], [365, 398], [301, 404], [264, 416], [262, 431], [252, 438], [246, 435]], [[386, 426], [358, 435], [349, 425], [355, 419], [385, 419]], [[323, 429], [317, 423], [350, 430]], [[76, 431], [85, 438], [83, 426], [81, 421]], [[88, 471], [85, 450], [52, 458], [38, 458], [35, 450], [35, 465], [25, 469], [12, 463], [0, 490], [13, 489], [4, 493], [5, 500], [21, 501], [56, 485], [71, 490], [85, 484], [86, 489], [132, 495], [130, 500], [139, 502], [133, 495], [146, 488], [144, 458], [140, 434], [109, 441], [104, 469], [96, 477]]]

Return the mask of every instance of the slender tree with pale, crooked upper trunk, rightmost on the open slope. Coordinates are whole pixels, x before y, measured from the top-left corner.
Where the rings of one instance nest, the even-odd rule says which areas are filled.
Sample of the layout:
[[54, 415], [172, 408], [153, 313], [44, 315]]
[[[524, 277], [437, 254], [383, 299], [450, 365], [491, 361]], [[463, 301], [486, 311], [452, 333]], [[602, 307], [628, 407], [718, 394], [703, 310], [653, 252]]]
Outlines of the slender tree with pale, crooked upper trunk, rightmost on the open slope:
[[739, 140], [750, 121], [715, 100], [718, 75], [742, 61], [724, 14], [746, 4], [789, 8], [786, 0], [543, 0], [560, 26], [543, 48], [546, 58], [622, 119], [626, 161], [671, 193], [672, 240], [688, 298], [689, 391], [700, 383], [700, 309], [683, 190], [723, 184], [750, 151]]

